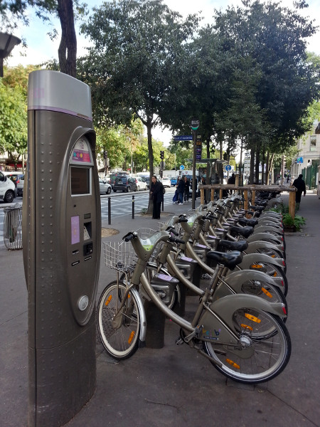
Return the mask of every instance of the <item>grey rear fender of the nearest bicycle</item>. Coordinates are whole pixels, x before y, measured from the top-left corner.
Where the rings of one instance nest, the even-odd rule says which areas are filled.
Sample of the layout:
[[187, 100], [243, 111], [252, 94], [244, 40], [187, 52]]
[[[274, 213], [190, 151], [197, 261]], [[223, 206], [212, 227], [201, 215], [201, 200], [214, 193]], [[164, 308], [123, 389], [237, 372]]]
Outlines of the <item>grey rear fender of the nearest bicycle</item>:
[[210, 310], [218, 315], [228, 325], [230, 330], [237, 333], [233, 325], [233, 315], [235, 311], [241, 308], [252, 310], [263, 310], [270, 312], [272, 315], [284, 317], [284, 304], [281, 302], [268, 302], [255, 295], [237, 294], [227, 295], [220, 300], [210, 304]]

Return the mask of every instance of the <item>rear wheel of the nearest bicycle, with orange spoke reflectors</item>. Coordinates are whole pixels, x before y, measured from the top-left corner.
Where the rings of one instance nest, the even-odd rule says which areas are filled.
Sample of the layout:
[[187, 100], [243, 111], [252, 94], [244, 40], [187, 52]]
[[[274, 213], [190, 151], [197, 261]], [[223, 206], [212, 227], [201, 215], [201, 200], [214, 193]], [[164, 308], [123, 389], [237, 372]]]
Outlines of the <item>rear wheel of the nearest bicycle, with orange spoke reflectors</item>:
[[[218, 342], [204, 342], [205, 352], [215, 361], [220, 362], [218, 366], [210, 361], [215, 369], [233, 381], [243, 384], [259, 384], [270, 381], [279, 375], [287, 366], [291, 355], [291, 339], [289, 332], [279, 317], [262, 310], [254, 310], [255, 317], [259, 317], [260, 323], [252, 322], [245, 313], [250, 312], [246, 308], [236, 310], [233, 318], [235, 324], [242, 325], [239, 335], [239, 346], [234, 348], [228, 344]], [[242, 324], [245, 322], [245, 325]], [[272, 337], [261, 337], [257, 332], [260, 327], [270, 323], [277, 330]], [[248, 331], [252, 328], [251, 335]], [[256, 332], [256, 337], [253, 336]]]

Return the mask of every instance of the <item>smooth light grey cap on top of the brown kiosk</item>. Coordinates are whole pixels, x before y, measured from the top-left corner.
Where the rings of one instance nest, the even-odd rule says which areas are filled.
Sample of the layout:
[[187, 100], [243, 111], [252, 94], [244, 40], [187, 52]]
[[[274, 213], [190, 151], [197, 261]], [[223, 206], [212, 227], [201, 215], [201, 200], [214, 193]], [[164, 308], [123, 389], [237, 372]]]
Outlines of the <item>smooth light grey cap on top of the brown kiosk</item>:
[[92, 121], [90, 88], [59, 71], [33, 71], [29, 75], [28, 110], [64, 112]]

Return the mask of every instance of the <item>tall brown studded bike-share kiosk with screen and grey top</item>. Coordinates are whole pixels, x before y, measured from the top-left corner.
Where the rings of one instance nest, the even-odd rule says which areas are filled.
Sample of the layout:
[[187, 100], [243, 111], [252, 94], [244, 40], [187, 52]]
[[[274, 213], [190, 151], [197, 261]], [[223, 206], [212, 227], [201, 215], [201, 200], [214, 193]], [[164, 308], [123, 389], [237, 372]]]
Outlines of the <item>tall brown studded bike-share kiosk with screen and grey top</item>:
[[29, 75], [23, 263], [28, 287], [28, 426], [67, 423], [96, 384], [100, 191], [90, 88]]

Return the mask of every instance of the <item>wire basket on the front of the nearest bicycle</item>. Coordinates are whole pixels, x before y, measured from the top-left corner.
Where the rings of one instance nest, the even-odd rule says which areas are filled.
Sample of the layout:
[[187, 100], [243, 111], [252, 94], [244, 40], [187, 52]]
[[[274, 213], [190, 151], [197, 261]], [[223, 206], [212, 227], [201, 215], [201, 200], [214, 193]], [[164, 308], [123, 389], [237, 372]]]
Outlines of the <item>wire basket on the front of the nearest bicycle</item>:
[[137, 263], [137, 255], [131, 243], [103, 242], [105, 265], [112, 270], [128, 273], [133, 271]]

